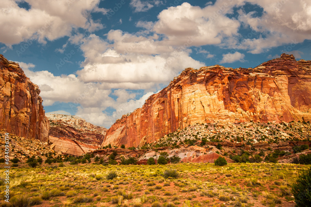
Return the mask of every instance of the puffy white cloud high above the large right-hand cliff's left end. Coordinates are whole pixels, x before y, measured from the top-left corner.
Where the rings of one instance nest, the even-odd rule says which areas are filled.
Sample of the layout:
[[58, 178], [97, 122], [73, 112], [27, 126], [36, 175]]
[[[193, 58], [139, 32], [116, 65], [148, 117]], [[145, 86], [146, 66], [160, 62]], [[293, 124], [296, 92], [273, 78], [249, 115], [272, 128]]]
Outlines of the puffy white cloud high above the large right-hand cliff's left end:
[[163, 40], [168, 45], [215, 45], [223, 38], [236, 35], [239, 21], [225, 15], [211, 18], [218, 8], [214, 5], [200, 8], [183, 3], [180, 6], [169, 7], [158, 15], [154, 31], [166, 35]]

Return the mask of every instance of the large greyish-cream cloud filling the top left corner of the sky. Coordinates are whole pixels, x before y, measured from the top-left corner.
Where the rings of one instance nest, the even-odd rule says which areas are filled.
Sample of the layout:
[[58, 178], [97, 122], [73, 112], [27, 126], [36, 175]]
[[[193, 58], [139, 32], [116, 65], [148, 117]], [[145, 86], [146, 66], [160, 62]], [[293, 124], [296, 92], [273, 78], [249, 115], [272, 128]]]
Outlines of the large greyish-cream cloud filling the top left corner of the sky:
[[26, 0], [29, 10], [18, 7], [16, 1], [2, 0], [0, 4], [0, 41], [7, 46], [26, 40], [46, 43], [63, 36], [70, 36], [72, 29], [83, 28], [88, 31], [102, 29], [104, 26], [91, 19], [91, 12], [105, 14], [99, 8], [100, 0]]

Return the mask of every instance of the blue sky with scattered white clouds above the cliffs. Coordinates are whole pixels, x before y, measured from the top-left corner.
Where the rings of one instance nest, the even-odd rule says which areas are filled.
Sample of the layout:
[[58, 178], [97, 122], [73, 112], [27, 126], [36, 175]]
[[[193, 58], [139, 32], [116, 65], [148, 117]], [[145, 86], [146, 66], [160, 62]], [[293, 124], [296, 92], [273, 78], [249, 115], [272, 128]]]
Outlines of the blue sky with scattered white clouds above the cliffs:
[[0, 53], [20, 63], [46, 112], [110, 127], [188, 67], [311, 59], [304, 0], [2, 0]]

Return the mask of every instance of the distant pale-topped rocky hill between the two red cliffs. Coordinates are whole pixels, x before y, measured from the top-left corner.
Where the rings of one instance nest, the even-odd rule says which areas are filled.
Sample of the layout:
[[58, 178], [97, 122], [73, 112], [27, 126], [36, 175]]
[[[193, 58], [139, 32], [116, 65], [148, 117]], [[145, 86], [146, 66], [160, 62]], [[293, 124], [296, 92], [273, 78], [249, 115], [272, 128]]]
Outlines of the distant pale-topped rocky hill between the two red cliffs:
[[73, 115], [47, 113], [50, 121], [49, 141], [55, 151], [80, 156], [93, 152], [103, 142], [106, 128], [93, 125]]

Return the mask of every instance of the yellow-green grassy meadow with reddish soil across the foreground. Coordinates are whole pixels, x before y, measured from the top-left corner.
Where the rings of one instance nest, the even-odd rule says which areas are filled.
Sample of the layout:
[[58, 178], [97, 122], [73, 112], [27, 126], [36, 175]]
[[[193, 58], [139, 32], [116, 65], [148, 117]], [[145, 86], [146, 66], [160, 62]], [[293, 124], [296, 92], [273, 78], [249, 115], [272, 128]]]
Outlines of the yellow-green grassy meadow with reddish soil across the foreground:
[[11, 168], [10, 204], [0, 206], [294, 206], [291, 185], [306, 168], [280, 163], [25, 164]]

